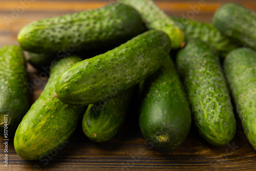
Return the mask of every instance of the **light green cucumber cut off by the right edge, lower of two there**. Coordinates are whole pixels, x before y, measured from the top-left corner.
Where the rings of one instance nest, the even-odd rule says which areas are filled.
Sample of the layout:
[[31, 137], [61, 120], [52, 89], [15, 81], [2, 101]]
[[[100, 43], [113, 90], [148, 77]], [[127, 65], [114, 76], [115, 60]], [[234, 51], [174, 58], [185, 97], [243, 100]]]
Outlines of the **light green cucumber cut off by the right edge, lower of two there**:
[[239, 48], [224, 61], [229, 88], [245, 135], [256, 150], [256, 52]]

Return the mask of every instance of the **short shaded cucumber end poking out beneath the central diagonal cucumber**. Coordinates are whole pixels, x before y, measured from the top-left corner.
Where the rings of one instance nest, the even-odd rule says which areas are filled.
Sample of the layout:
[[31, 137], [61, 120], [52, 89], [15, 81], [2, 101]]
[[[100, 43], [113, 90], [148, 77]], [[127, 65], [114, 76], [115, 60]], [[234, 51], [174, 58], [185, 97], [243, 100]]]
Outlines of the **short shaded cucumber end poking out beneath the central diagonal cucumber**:
[[109, 99], [90, 104], [83, 115], [82, 129], [94, 142], [105, 142], [116, 135], [127, 112], [133, 88]]

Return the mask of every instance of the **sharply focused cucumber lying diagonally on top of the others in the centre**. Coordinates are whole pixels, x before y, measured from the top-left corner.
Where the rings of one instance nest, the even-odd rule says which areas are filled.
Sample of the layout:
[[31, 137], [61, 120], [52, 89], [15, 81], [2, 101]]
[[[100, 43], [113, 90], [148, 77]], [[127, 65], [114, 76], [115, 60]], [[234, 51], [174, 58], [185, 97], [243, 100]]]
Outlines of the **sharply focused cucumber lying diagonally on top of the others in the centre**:
[[169, 51], [167, 34], [147, 31], [63, 72], [55, 86], [57, 97], [77, 106], [112, 97], [156, 72]]

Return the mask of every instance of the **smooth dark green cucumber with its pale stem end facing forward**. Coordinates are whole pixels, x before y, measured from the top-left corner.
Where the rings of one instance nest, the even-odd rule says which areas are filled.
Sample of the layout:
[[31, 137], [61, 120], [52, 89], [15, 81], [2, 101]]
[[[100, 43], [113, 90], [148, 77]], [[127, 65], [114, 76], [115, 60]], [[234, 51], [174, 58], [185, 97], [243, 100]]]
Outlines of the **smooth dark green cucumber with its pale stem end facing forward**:
[[191, 112], [170, 57], [144, 81], [142, 92], [139, 125], [143, 137], [160, 151], [176, 148], [189, 133]]

